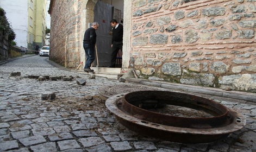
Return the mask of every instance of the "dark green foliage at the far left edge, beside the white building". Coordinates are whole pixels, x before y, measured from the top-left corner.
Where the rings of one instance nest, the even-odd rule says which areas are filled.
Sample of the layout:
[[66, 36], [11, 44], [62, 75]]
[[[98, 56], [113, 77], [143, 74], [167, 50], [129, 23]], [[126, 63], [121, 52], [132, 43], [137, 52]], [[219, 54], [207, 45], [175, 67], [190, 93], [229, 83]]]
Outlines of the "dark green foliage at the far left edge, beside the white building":
[[0, 30], [3, 30], [4, 33], [8, 34], [9, 41], [15, 39], [16, 35], [14, 33], [14, 30], [11, 28], [10, 23], [5, 16], [5, 11], [2, 8], [0, 8]]

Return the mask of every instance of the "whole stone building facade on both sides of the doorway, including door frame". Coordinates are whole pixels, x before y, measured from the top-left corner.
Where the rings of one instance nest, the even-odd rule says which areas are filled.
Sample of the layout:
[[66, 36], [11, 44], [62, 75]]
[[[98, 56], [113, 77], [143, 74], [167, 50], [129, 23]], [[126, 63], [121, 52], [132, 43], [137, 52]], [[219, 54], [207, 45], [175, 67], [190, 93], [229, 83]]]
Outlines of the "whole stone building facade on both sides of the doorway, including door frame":
[[[96, 3], [51, 1], [52, 60], [69, 68], [84, 62], [83, 35], [95, 20]], [[256, 92], [255, 0], [123, 5], [124, 70], [134, 68], [145, 79]]]

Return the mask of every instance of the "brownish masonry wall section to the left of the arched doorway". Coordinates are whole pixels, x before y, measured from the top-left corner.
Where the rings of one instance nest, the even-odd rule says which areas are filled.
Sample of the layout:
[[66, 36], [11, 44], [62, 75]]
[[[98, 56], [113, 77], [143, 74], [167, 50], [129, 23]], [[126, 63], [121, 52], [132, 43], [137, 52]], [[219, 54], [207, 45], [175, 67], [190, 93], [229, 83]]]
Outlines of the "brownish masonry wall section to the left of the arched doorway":
[[49, 59], [75, 68], [80, 62], [80, 7], [82, 1], [52, 1]]

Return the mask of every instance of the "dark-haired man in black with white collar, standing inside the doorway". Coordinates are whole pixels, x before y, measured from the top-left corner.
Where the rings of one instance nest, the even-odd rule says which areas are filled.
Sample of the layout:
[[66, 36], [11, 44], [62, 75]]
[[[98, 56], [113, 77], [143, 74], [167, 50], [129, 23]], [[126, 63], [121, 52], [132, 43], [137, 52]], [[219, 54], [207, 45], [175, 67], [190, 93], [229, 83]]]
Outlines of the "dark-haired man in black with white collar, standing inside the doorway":
[[113, 27], [113, 36], [112, 36], [112, 53], [111, 53], [111, 65], [110, 67], [115, 67], [116, 55], [118, 50], [123, 50], [123, 26], [122, 24], [117, 23], [115, 19], [110, 21], [111, 26]]

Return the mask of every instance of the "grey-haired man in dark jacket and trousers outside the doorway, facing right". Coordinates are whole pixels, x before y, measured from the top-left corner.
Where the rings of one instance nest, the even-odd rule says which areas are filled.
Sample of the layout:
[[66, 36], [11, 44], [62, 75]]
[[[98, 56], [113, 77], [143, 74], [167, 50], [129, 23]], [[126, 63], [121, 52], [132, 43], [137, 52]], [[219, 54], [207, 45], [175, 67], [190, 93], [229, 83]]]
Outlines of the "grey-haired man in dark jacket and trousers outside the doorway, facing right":
[[84, 50], [86, 55], [86, 63], [84, 66], [85, 72], [93, 72], [91, 64], [95, 60], [95, 45], [96, 45], [96, 33], [95, 30], [99, 28], [97, 22], [93, 22], [92, 26], [84, 33]]

